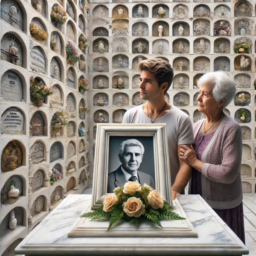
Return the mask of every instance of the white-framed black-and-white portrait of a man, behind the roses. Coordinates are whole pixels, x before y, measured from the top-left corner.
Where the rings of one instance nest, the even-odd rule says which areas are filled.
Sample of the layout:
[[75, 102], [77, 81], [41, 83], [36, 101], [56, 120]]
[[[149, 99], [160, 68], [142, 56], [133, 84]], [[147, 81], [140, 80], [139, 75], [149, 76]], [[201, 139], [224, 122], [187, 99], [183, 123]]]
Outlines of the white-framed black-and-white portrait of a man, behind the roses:
[[151, 186], [172, 205], [166, 124], [97, 124], [91, 209], [128, 181]]

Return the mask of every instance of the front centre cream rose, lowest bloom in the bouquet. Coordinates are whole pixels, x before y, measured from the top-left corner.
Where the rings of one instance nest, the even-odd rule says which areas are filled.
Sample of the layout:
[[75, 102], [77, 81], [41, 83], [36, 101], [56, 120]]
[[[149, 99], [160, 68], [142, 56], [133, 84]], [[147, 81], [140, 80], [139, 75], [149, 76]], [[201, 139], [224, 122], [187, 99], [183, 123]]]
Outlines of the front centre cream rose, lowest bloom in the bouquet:
[[123, 211], [130, 217], [138, 218], [145, 212], [145, 205], [140, 198], [132, 197], [122, 204]]

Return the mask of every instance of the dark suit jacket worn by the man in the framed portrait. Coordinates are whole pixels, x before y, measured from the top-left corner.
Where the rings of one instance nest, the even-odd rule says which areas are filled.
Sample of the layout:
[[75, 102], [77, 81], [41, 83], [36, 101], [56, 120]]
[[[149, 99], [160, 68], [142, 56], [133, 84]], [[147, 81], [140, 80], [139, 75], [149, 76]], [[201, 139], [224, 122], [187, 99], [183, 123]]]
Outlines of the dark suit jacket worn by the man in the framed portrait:
[[[153, 178], [145, 172], [137, 171], [139, 182], [141, 185], [146, 183], [155, 189]], [[122, 172], [121, 166], [119, 166], [114, 172], [108, 174], [108, 191], [107, 193], [113, 193], [113, 190], [117, 187], [124, 186], [128, 180], [125, 179], [125, 175]]]

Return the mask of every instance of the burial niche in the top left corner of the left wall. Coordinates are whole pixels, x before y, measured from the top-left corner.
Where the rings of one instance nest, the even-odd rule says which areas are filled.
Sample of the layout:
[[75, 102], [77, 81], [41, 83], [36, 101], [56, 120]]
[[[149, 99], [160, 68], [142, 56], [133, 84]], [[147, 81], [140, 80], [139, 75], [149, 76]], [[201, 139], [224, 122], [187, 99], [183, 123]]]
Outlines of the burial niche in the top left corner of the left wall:
[[23, 12], [15, 0], [1, 1], [1, 19], [23, 31]]

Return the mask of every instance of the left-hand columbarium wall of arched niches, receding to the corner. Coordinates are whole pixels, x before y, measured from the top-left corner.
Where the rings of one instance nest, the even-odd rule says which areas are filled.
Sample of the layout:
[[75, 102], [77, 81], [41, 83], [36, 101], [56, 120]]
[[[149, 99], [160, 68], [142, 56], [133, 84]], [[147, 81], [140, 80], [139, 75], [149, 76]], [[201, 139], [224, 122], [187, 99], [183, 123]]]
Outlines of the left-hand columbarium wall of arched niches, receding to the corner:
[[[0, 255], [12, 255], [67, 195], [87, 187], [89, 108], [80, 83], [88, 53], [79, 42], [89, 34], [88, 7], [2, 0], [0, 9]], [[79, 62], [67, 60], [68, 44]]]

